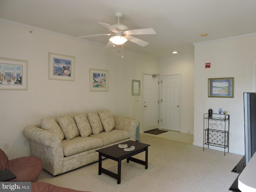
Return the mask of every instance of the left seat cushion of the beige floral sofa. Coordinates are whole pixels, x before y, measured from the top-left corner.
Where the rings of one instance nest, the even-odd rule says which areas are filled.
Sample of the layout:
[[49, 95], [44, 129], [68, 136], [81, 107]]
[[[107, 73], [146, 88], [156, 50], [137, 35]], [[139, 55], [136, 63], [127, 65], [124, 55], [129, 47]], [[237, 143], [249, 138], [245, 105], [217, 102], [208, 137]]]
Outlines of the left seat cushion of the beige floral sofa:
[[72, 140], [62, 140], [61, 142], [64, 156], [74, 155], [103, 146], [103, 141], [92, 137], [75, 137]]

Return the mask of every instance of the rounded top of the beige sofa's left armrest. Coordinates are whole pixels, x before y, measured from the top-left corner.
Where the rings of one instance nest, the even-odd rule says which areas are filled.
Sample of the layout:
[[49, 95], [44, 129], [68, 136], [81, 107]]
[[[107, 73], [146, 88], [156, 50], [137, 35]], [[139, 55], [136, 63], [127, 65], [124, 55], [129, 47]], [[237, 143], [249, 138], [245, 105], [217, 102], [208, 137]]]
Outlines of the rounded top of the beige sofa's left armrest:
[[56, 134], [38, 128], [36, 125], [26, 127], [25, 136], [29, 140], [47, 147], [53, 147], [61, 143], [60, 138]]

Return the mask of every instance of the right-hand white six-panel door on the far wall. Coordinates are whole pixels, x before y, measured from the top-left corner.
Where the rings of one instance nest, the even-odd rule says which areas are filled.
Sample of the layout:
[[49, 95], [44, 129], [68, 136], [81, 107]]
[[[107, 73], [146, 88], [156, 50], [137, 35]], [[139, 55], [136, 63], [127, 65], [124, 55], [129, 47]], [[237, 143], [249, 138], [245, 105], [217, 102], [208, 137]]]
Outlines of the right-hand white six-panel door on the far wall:
[[163, 75], [160, 128], [180, 131], [180, 75]]

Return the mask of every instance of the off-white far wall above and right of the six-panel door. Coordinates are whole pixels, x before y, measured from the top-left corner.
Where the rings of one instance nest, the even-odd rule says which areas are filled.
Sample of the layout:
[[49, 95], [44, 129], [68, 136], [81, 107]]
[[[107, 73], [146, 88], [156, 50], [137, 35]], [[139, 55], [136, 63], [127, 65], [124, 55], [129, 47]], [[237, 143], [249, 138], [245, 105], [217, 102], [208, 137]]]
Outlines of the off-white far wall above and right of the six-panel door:
[[194, 133], [194, 55], [160, 59], [160, 74], [181, 74], [180, 132]]

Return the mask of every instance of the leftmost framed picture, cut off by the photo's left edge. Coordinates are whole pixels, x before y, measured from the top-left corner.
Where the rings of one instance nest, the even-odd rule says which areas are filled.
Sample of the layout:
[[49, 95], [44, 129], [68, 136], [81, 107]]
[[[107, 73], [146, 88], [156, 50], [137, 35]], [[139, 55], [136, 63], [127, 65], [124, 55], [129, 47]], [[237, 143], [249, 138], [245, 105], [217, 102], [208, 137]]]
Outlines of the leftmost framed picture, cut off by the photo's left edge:
[[0, 58], [0, 89], [28, 90], [28, 61]]

